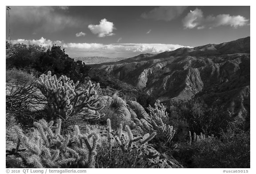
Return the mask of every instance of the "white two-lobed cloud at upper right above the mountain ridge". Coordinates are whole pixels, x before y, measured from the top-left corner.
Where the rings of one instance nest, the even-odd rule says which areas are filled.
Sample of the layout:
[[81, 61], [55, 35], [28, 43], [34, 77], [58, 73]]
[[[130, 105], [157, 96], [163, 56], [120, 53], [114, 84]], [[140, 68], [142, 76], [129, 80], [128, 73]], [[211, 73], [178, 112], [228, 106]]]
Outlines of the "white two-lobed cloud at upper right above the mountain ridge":
[[221, 15], [208, 15], [204, 17], [203, 11], [201, 9], [196, 8], [194, 11], [190, 11], [188, 15], [183, 19], [183, 26], [185, 29], [204, 29], [219, 26], [231, 26], [234, 28], [242, 27], [249, 24], [249, 19], [246, 19], [241, 15], [229, 15], [229, 14], [221, 14]]

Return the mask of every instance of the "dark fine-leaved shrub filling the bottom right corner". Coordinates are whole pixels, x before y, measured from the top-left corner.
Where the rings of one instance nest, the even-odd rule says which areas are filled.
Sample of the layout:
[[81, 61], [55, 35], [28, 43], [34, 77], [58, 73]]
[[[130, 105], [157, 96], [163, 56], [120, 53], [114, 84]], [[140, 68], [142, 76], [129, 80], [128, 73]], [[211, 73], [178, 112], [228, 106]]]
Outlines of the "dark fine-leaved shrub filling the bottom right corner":
[[220, 139], [195, 145], [194, 163], [199, 168], [250, 168], [249, 132], [228, 130]]

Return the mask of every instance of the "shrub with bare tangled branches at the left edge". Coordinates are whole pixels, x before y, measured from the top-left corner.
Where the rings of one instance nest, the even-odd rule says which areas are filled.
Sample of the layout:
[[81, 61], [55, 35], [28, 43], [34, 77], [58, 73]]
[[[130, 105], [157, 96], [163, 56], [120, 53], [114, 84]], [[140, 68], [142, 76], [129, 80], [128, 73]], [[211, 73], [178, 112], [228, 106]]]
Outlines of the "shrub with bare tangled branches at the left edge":
[[45, 97], [36, 87], [36, 79], [22, 70], [6, 71], [6, 112], [25, 114], [40, 110], [46, 102]]

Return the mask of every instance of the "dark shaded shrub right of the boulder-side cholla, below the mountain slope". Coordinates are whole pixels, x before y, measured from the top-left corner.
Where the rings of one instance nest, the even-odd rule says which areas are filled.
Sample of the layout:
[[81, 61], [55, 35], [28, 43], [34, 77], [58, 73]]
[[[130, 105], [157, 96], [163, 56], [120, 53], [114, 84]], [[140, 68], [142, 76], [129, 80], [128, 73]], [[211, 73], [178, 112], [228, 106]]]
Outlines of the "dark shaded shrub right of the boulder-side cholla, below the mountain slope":
[[175, 112], [188, 124], [188, 130], [205, 135], [220, 136], [222, 130], [226, 131], [232, 117], [215, 105], [208, 106], [203, 101], [192, 99], [189, 101], [172, 101], [168, 112]]

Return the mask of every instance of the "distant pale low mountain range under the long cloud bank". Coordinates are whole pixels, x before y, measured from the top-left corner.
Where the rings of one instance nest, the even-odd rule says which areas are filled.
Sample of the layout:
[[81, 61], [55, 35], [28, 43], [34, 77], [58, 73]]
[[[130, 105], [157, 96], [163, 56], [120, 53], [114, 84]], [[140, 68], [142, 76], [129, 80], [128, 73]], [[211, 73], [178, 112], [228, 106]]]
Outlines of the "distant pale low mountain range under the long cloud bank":
[[98, 63], [106, 63], [106, 62], [117, 62], [120, 60], [123, 60], [125, 58], [106, 58], [106, 57], [77, 57], [77, 58], [73, 58], [76, 61], [82, 61], [85, 64], [98, 64]]

